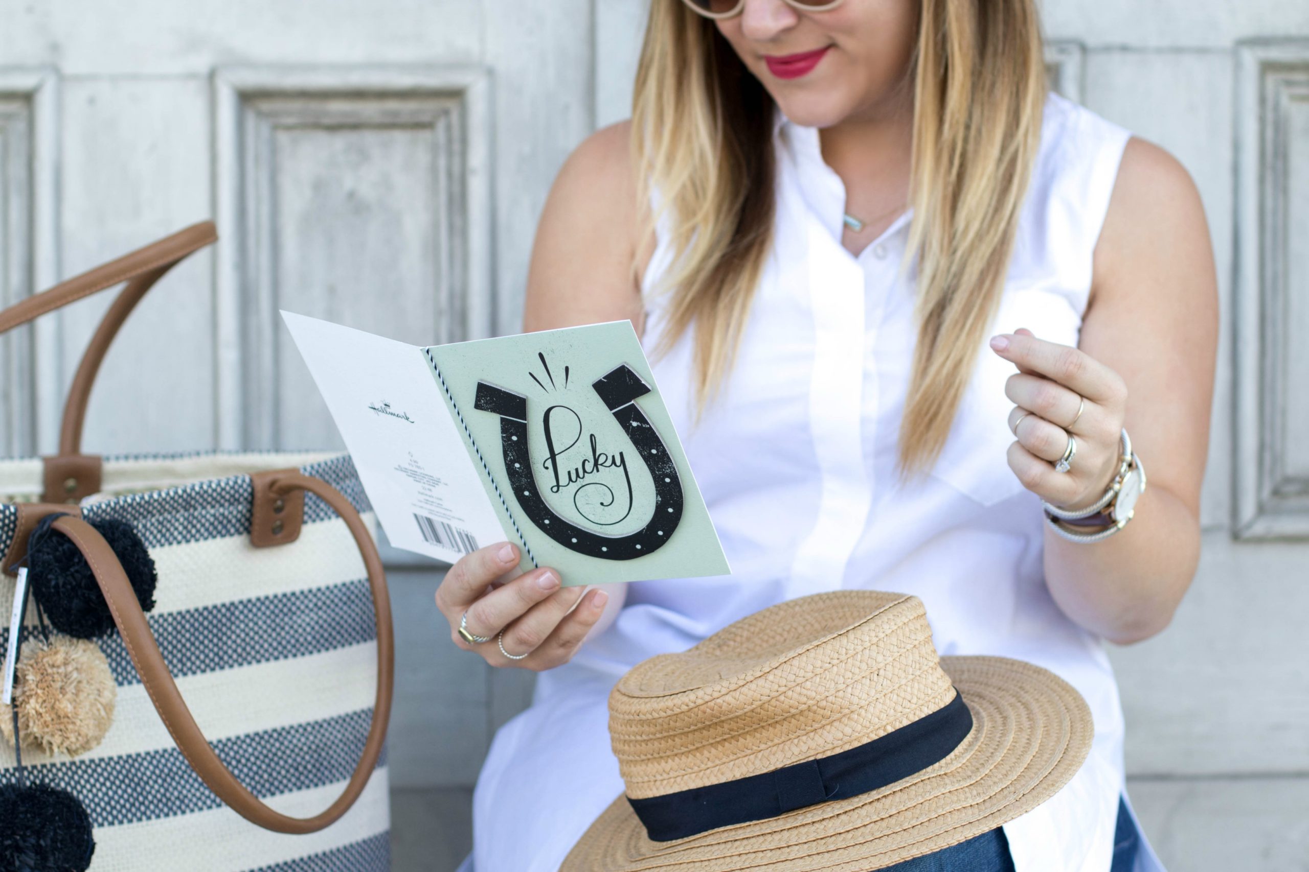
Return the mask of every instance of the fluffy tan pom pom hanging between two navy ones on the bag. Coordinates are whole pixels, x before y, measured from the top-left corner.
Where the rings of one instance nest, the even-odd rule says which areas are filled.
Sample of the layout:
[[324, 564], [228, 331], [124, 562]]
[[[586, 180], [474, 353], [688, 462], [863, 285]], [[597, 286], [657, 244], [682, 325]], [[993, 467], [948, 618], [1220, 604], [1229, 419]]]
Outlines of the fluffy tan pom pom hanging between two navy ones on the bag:
[[[105, 737], [114, 720], [118, 686], [98, 645], [60, 634], [48, 643], [22, 643], [13, 697], [24, 745], [75, 757]], [[0, 733], [13, 743], [13, 714], [3, 703]]]

